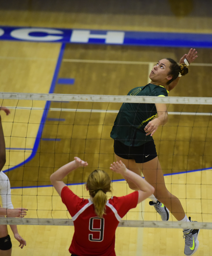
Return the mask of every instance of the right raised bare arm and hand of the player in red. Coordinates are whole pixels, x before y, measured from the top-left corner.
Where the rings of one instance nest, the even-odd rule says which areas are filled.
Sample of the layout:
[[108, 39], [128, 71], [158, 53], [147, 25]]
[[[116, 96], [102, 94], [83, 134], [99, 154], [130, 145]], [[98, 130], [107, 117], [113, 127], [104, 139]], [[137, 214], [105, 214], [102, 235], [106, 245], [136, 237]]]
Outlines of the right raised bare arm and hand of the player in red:
[[155, 188], [152, 185], [150, 185], [140, 175], [128, 170], [121, 160], [110, 164], [110, 169], [113, 172], [120, 173], [125, 179], [131, 180], [136, 187], [139, 188], [138, 204], [155, 192]]

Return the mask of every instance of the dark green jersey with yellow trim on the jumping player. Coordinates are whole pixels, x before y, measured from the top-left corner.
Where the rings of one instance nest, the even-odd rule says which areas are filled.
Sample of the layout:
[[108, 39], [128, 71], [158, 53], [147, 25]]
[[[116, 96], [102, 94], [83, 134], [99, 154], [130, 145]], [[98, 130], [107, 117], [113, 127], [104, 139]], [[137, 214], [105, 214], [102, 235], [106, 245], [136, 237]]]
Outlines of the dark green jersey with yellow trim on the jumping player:
[[[155, 84], [136, 87], [127, 95], [132, 96], [168, 96], [168, 91]], [[126, 146], [141, 146], [153, 140], [146, 136], [145, 126], [157, 115], [154, 103], [123, 103], [114, 122], [110, 137]]]

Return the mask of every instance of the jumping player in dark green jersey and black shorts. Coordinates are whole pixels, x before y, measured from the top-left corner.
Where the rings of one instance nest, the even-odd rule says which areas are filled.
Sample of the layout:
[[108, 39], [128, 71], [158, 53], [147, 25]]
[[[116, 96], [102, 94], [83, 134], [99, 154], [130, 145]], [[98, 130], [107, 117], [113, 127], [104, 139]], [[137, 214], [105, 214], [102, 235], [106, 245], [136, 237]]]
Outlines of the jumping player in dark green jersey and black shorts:
[[[179, 82], [180, 76], [188, 73], [188, 65], [197, 58], [195, 49], [180, 59], [180, 65], [172, 59], [162, 59], [153, 67], [149, 78], [150, 84], [132, 89], [128, 95], [136, 96], [168, 96]], [[154, 118], [155, 117], [155, 118]], [[166, 104], [163, 103], [123, 103], [110, 137], [114, 139], [114, 152], [117, 161], [141, 175], [155, 188], [155, 200], [150, 202], [161, 214], [162, 220], [168, 220], [170, 210], [178, 221], [191, 221], [187, 218], [179, 199], [166, 188], [163, 171], [159, 163], [152, 135], [168, 122]], [[125, 176], [123, 176], [125, 178]], [[137, 190], [133, 183], [128, 182], [131, 189]], [[157, 198], [157, 199], [156, 199]], [[196, 252], [199, 241], [198, 229], [184, 229], [185, 255]]]

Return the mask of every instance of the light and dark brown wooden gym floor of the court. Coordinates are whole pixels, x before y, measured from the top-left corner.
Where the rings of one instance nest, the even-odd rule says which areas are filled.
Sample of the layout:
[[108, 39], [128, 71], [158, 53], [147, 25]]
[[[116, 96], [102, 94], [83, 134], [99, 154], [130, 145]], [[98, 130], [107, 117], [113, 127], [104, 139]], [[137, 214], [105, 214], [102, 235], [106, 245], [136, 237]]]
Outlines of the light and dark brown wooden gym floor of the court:
[[[187, 1], [180, 8], [176, 7], [175, 1], [162, 1], [160, 6], [156, 1], [151, 5], [132, 1], [134, 5], [131, 3], [130, 6], [127, 6], [128, 1], [123, 1], [121, 10], [118, 8], [119, 1], [109, 1], [107, 6], [105, 2], [98, 2], [103, 4], [104, 8], [96, 5], [96, 1], [91, 1], [89, 6], [83, 5], [83, 1], [71, 1], [72, 8], [68, 1], [62, 1], [62, 4], [57, 1], [51, 4], [49, 1], [46, 4], [41, 4], [41, 1], [22, 1], [20, 4], [11, 2], [10, 6], [7, 3], [2, 4], [1, 25], [212, 32], [211, 16], [207, 11], [209, 7], [204, 6], [204, 3], [200, 6], [198, 1]], [[66, 44], [63, 60], [56, 74], [60, 44], [0, 41], [1, 91], [48, 93], [51, 88], [55, 93], [126, 95], [133, 87], [148, 83], [149, 70], [158, 60], [166, 57], [179, 60], [188, 50]], [[197, 51], [198, 59], [191, 65], [190, 73], [181, 79], [177, 88], [170, 92], [170, 96], [212, 97], [212, 52], [211, 49]], [[132, 64], [131, 61], [137, 63]], [[75, 82], [73, 85], [53, 83], [55, 74], [57, 79], [74, 78]], [[118, 110], [120, 104], [52, 102], [49, 110], [45, 112], [47, 116], [39, 140], [36, 140], [36, 137], [41, 129], [40, 123], [46, 102], [5, 100], [3, 104], [11, 107], [10, 116], [2, 113], [7, 147], [7, 163], [4, 170], [8, 169], [8, 166], [11, 168], [31, 159], [26, 161], [24, 167], [6, 172], [11, 186], [16, 187], [12, 189], [14, 207], [23, 205], [28, 208], [28, 218], [70, 217], [56, 192], [48, 185], [50, 174], [76, 155], [85, 159], [89, 166], [84, 170], [79, 169], [79, 172], [73, 172], [66, 180], [68, 183], [85, 182], [87, 175], [95, 168], [108, 171], [113, 180], [121, 179], [109, 170], [114, 159], [110, 130], [116, 114], [72, 111], [73, 108]], [[178, 105], [169, 106], [168, 110], [211, 112], [210, 106]], [[212, 166], [211, 129], [210, 116], [169, 115], [169, 123], [163, 129], [158, 129], [154, 136], [164, 173], [182, 172], [165, 176], [167, 187], [180, 198], [188, 216], [204, 222], [211, 222], [211, 171], [183, 172]], [[37, 150], [33, 152], [35, 144]], [[72, 185], [71, 188], [79, 196], [88, 196], [82, 185]], [[125, 182], [113, 182], [113, 195], [121, 196], [130, 192]], [[125, 218], [160, 220], [159, 215], [148, 205], [148, 200], [128, 213]], [[18, 228], [20, 235], [26, 239], [27, 246], [20, 250], [10, 231], [13, 255], [70, 255], [68, 247], [73, 227]], [[210, 230], [200, 232], [200, 246], [195, 255], [210, 255], [212, 247], [208, 241], [211, 237]], [[117, 255], [183, 255], [183, 248], [181, 229], [117, 228]]]

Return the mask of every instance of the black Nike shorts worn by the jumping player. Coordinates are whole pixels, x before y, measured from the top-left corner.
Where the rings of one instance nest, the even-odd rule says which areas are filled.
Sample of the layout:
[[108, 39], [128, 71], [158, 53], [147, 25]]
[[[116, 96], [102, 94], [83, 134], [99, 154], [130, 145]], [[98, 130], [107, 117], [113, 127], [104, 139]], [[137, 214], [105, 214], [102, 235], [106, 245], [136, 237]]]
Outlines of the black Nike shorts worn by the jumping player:
[[126, 146], [118, 140], [114, 140], [114, 152], [124, 159], [135, 159], [136, 163], [146, 163], [157, 156], [155, 142], [150, 140], [138, 147]]

